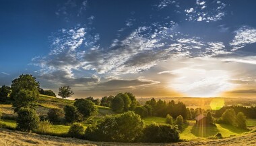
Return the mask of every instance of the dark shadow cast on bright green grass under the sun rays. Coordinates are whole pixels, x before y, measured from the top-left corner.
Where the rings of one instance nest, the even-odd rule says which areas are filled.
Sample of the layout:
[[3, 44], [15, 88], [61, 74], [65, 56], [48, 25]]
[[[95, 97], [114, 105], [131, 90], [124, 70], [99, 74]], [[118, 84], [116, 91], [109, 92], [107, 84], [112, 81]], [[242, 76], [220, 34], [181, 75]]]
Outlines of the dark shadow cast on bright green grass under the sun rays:
[[196, 137], [210, 137], [218, 133], [216, 125], [197, 125], [195, 124], [191, 129], [191, 133]]

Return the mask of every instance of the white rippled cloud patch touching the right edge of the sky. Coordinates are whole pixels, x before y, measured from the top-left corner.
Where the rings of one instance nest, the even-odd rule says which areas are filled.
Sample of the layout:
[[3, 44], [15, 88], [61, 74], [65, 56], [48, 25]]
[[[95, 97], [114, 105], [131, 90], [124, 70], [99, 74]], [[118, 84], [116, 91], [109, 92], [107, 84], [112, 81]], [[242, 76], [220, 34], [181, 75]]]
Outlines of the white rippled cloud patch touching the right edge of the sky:
[[256, 42], [256, 29], [249, 26], [243, 26], [234, 31], [234, 40], [230, 42], [232, 50], [238, 50], [245, 47], [247, 44], [253, 44]]

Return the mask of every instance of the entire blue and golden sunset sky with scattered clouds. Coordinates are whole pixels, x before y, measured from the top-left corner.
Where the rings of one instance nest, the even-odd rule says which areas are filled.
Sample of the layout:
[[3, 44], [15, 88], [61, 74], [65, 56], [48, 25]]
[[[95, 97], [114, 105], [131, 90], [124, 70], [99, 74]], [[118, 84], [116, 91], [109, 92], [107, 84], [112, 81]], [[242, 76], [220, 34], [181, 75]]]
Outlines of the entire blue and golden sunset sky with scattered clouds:
[[0, 85], [255, 97], [254, 0], [0, 0]]

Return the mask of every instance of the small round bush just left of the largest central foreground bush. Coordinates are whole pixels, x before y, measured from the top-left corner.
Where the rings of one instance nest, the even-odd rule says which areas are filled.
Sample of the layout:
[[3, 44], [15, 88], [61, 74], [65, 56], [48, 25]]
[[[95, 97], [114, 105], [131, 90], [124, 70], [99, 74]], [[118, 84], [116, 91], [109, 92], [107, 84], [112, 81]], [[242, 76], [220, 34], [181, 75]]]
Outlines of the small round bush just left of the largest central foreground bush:
[[84, 135], [84, 127], [80, 123], [71, 125], [68, 132], [70, 137], [81, 139]]

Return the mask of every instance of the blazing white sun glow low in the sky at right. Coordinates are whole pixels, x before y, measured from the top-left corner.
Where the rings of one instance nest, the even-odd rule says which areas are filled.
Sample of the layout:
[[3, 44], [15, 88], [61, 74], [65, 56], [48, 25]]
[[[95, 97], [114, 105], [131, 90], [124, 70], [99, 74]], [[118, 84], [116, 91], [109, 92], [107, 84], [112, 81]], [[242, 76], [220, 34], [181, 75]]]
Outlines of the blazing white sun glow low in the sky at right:
[[181, 68], [173, 70], [172, 74], [178, 77], [174, 78], [170, 87], [187, 96], [214, 97], [234, 88], [230, 75], [223, 70]]

